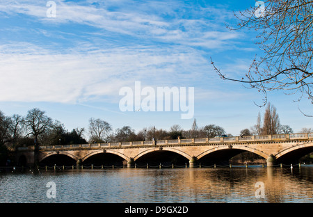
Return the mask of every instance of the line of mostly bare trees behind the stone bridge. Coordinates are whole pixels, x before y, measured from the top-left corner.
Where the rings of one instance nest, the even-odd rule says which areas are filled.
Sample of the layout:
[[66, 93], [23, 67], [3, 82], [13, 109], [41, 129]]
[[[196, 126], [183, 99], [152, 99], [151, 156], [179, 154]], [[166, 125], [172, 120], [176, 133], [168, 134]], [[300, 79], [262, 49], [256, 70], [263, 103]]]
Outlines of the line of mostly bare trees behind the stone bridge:
[[[312, 129], [303, 128], [302, 130], [302, 132], [310, 131]], [[242, 129], [240, 136], [291, 134], [293, 132], [289, 125], [280, 124], [275, 106], [268, 103], [263, 121], [259, 113], [257, 123], [250, 129]], [[223, 127], [216, 124], [198, 127], [196, 120], [193, 120], [191, 129], [187, 130], [182, 129], [179, 124], [174, 124], [169, 130], [150, 126], [136, 132], [129, 126], [113, 130], [111, 124], [99, 118], [90, 118], [88, 130], [77, 127], [68, 131], [63, 123], [52, 120], [45, 111], [37, 108], [29, 110], [26, 116], [17, 114], [6, 116], [0, 111], [0, 161], [6, 159], [10, 148], [20, 146], [35, 145], [38, 147], [39, 145], [113, 143], [153, 139], [211, 138], [225, 134], [232, 136], [227, 134]]]

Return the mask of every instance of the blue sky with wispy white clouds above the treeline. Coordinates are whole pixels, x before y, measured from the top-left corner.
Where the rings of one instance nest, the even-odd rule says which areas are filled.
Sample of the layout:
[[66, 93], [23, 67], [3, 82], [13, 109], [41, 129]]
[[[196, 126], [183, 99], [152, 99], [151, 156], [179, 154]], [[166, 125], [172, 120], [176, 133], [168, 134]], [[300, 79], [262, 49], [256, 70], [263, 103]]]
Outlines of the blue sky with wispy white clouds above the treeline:
[[[199, 127], [217, 124], [238, 135], [264, 113], [263, 95], [223, 81], [210, 57], [229, 77], [241, 78], [255, 54], [256, 32], [230, 31], [233, 13], [255, 1], [48, 1], [0, 3], [0, 110], [26, 115], [38, 107], [65, 127], [88, 128], [101, 118], [113, 129], [155, 126], [190, 129], [181, 112], [122, 112], [119, 90], [141, 86], [194, 87], [193, 118]], [[312, 105], [297, 95], [268, 93], [281, 124], [295, 132], [313, 127]]]

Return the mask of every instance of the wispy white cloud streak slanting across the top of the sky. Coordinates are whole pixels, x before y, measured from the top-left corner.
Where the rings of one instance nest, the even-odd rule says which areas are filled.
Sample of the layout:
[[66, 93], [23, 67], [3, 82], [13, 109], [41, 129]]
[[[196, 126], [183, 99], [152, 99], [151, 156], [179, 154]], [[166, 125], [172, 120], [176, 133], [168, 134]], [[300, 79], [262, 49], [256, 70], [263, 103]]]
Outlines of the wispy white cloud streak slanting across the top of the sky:
[[[220, 13], [210, 6], [181, 10], [179, 1], [56, 1], [56, 18], [46, 17], [45, 2], [6, 1], [0, 11], [9, 15], [18, 13], [33, 16], [47, 24], [81, 24], [93, 26], [99, 31], [109, 31], [139, 38], [216, 49], [239, 38], [238, 33], [227, 31], [223, 17], [209, 13]], [[186, 7], [186, 6], [185, 6]], [[112, 9], [115, 8], [115, 9]], [[224, 12], [225, 14], [225, 12]], [[187, 16], [186, 16], [187, 15]], [[214, 17], [214, 19], [212, 19]], [[223, 27], [223, 28], [221, 28]], [[105, 34], [105, 33], [104, 33]]]

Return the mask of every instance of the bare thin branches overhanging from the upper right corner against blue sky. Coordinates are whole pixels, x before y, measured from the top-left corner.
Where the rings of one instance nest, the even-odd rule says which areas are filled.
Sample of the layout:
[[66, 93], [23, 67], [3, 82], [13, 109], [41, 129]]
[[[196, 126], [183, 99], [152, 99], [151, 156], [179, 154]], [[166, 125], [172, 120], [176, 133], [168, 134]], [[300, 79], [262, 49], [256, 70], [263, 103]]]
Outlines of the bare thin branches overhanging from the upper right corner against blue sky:
[[[282, 90], [284, 93], [300, 93], [313, 103], [313, 1], [312, 0], [268, 0], [264, 1], [264, 10], [251, 7], [235, 15], [239, 19], [238, 28], [255, 29], [259, 35], [260, 49], [264, 55], [255, 57], [250, 70], [240, 79], [230, 78], [220, 72], [222, 79], [250, 84], [264, 93]], [[246, 79], [244, 79], [246, 77]]]

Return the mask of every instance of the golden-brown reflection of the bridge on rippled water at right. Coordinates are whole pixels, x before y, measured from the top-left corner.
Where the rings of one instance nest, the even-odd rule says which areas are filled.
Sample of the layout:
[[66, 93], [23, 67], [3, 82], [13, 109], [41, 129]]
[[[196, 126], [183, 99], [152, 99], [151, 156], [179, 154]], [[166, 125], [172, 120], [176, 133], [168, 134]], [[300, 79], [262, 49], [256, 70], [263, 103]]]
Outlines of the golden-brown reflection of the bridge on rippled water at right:
[[[289, 165], [290, 166], [290, 165]], [[312, 178], [305, 173], [312, 172], [312, 167], [294, 168], [216, 168], [202, 172], [191, 168], [182, 172], [177, 188], [190, 188], [199, 201], [238, 202], [234, 198], [244, 198], [241, 202], [313, 202]], [[257, 198], [256, 191], [264, 184], [264, 197]], [[176, 183], [176, 182], [172, 182]], [[173, 188], [174, 188], [173, 187]], [[226, 197], [225, 197], [226, 195]]]

